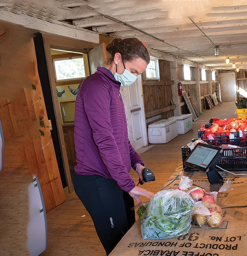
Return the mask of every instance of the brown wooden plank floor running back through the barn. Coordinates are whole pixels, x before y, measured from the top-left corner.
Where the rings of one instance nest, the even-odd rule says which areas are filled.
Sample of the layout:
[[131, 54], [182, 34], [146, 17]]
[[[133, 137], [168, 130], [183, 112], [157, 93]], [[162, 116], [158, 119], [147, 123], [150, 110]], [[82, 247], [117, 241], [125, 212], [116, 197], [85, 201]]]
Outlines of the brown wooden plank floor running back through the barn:
[[[234, 102], [225, 102], [211, 110], [205, 110], [198, 120], [193, 122], [193, 130], [185, 135], [178, 135], [166, 144], [153, 144], [139, 150], [138, 152], [145, 166], [153, 170], [156, 177], [156, 181], [144, 184], [143, 188], [157, 192], [163, 187], [171, 173], [182, 161], [181, 147], [191, 142], [192, 138], [197, 138], [197, 130], [200, 128], [201, 122], [205, 123], [210, 117], [236, 117], [235, 111]], [[145, 149], [148, 150], [145, 151]], [[132, 170], [131, 175], [137, 183], [138, 176], [135, 171]], [[7, 195], [3, 195], [6, 190], [1, 190], [1, 188], [4, 188], [2, 187], [4, 186], [2, 178], [0, 179], [0, 185], [0, 255], [29, 255], [25, 248], [26, 232], [23, 232], [28, 218], [23, 218], [19, 222], [15, 221], [14, 216], [19, 214], [15, 211], [18, 198], [12, 197], [7, 202], [7, 197], [5, 197]], [[16, 187], [15, 189], [22, 188]], [[145, 201], [145, 198], [142, 198], [142, 200]], [[27, 205], [23, 205], [23, 207], [27, 207]], [[15, 224], [15, 228], [13, 228], [13, 224]], [[48, 247], [40, 254], [41, 256], [106, 255], [89, 214], [74, 192], [66, 196], [64, 203], [47, 213], [47, 224]], [[12, 227], [11, 230], [9, 229], [10, 226]]]

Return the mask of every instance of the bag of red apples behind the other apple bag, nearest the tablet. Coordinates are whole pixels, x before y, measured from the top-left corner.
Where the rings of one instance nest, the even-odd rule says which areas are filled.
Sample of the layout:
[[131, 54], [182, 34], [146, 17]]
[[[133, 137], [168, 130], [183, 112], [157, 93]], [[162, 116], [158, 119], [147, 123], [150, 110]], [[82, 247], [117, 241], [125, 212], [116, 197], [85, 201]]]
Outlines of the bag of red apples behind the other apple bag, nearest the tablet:
[[212, 203], [216, 204], [218, 193], [230, 191], [232, 189], [232, 181], [230, 179], [227, 179], [218, 191], [208, 191], [206, 189], [196, 187], [188, 191], [188, 193], [195, 202], [211, 201]]

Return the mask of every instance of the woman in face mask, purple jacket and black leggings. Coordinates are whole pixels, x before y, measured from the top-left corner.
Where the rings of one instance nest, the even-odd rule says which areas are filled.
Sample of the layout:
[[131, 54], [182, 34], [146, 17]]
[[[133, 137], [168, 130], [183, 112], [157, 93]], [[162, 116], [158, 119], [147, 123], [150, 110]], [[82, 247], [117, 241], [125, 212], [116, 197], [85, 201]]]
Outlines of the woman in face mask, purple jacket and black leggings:
[[144, 164], [128, 139], [120, 86], [135, 82], [149, 64], [149, 52], [137, 38], [114, 38], [106, 68], [87, 77], [77, 94], [73, 185], [94, 222], [107, 255], [135, 222], [134, 199], [153, 196], [136, 187], [131, 167], [142, 182]]

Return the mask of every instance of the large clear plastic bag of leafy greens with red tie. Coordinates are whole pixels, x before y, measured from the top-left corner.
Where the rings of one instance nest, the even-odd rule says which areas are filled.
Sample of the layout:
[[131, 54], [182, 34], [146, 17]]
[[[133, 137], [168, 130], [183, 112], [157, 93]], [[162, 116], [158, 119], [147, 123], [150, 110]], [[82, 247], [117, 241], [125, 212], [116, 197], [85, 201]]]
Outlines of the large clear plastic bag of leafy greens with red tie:
[[143, 239], [164, 239], [187, 234], [191, 227], [194, 201], [183, 190], [192, 180], [181, 176], [176, 189], [161, 190], [152, 196], [141, 222]]

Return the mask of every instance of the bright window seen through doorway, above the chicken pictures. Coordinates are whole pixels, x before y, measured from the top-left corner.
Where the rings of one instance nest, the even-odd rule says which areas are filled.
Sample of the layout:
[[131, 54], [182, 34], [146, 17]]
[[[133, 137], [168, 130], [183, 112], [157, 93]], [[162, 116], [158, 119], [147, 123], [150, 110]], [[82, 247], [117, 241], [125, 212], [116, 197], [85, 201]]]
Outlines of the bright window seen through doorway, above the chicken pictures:
[[86, 77], [84, 59], [80, 56], [53, 59], [56, 81]]

